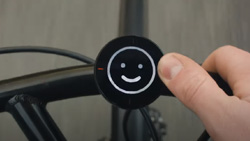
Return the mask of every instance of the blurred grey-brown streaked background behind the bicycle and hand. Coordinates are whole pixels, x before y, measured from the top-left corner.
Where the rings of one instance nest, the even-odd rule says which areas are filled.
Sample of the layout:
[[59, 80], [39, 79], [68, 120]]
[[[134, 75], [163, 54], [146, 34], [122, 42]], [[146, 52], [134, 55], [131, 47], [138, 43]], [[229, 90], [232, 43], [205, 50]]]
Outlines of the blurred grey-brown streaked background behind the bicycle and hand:
[[[250, 51], [248, 0], [151, 0], [148, 6], [149, 38], [164, 53], [182, 53], [202, 63], [223, 45]], [[0, 0], [0, 47], [50, 46], [95, 59], [118, 37], [119, 8], [118, 0]], [[1, 55], [0, 79], [80, 64], [39, 53]], [[175, 98], [160, 97], [151, 106], [168, 125], [166, 140], [196, 140], [204, 130]], [[102, 96], [50, 103], [48, 110], [68, 140], [110, 137], [111, 105]], [[27, 140], [8, 113], [0, 114], [0, 140]]]

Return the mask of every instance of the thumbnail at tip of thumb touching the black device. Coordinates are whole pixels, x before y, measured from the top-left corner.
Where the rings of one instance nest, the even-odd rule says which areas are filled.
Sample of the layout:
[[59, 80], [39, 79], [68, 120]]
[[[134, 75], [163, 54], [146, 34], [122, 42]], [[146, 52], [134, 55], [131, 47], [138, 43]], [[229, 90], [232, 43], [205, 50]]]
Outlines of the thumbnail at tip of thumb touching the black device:
[[183, 65], [173, 55], [165, 55], [160, 60], [158, 67], [160, 77], [168, 82], [181, 71]]

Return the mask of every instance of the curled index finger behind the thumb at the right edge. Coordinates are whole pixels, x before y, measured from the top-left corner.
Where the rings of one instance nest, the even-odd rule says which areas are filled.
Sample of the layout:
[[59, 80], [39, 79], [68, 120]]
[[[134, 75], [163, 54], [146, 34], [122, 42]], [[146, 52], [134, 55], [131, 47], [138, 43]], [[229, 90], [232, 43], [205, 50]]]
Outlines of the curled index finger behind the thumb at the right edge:
[[250, 54], [233, 46], [224, 46], [215, 50], [202, 67], [217, 72], [228, 82], [233, 93], [240, 99], [250, 102]]

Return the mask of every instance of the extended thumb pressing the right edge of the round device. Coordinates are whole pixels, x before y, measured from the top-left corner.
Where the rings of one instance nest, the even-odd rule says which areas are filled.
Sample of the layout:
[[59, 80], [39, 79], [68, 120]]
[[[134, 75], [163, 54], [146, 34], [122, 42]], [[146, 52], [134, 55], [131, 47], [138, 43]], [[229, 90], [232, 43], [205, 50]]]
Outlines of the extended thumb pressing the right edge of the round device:
[[193, 60], [177, 53], [166, 54], [159, 61], [158, 73], [169, 90], [201, 119], [223, 112], [228, 96]]

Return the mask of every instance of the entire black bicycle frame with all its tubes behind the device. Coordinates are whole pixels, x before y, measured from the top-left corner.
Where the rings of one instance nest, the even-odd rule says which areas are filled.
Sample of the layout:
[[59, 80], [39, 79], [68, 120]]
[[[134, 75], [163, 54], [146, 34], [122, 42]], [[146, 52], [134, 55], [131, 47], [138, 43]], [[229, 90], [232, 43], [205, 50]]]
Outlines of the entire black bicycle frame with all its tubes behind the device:
[[[148, 1], [122, 0], [119, 36], [147, 37]], [[230, 88], [217, 75], [213, 76], [228, 93]], [[46, 110], [56, 100], [98, 95], [93, 65], [68, 67], [0, 81], [0, 112], [8, 111], [29, 140], [66, 140]], [[162, 95], [172, 96], [164, 91]], [[124, 141], [122, 120], [125, 111], [112, 107], [111, 140]], [[144, 120], [133, 112], [128, 122], [131, 140], [149, 141]]]

